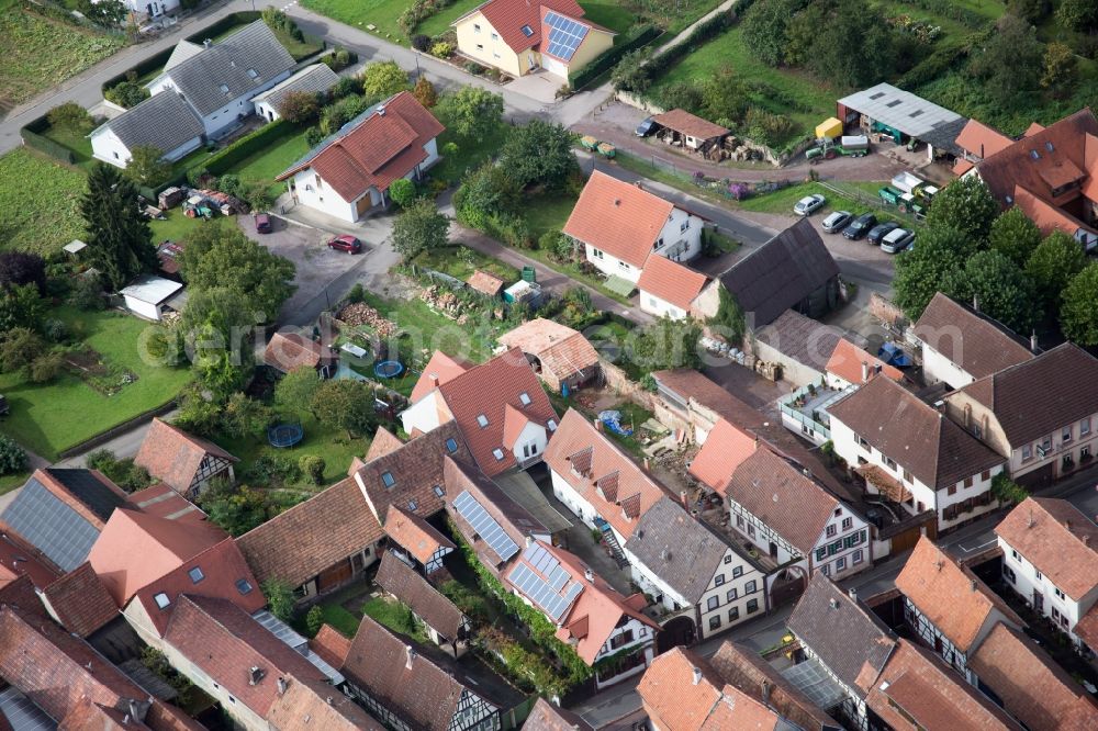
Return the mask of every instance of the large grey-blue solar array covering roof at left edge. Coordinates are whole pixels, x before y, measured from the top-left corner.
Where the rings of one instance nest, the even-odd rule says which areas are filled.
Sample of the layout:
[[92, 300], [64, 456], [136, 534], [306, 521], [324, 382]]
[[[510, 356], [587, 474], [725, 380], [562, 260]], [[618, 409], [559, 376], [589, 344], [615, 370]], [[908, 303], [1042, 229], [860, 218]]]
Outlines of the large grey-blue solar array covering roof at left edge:
[[94, 526], [33, 477], [0, 520], [66, 572], [85, 562], [99, 538]]

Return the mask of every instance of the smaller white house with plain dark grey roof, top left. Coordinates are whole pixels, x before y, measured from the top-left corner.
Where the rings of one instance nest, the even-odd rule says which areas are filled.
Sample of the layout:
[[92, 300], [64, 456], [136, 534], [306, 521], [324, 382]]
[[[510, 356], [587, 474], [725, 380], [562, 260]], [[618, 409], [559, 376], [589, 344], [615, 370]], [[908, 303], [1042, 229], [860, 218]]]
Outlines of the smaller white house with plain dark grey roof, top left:
[[97, 160], [119, 168], [130, 165], [135, 147], [155, 147], [175, 162], [202, 146], [202, 120], [182, 97], [163, 93], [104, 122], [88, 135]]

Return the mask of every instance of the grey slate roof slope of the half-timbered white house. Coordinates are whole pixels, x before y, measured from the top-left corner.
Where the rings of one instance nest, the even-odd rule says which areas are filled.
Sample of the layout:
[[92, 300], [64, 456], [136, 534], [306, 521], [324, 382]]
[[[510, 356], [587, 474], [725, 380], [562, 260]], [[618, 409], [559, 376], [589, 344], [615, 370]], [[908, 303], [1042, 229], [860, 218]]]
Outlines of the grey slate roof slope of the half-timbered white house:
[[693, 604], [731, 546], [669, 497], [640, 517], [625, 548]]

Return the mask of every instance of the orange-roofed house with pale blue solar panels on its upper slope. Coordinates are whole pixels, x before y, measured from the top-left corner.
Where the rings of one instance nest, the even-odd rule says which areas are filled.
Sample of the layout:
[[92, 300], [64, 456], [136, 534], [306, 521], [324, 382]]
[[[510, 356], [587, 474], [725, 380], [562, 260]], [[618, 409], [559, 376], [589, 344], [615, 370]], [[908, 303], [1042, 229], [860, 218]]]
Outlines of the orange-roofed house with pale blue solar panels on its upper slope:
[[660, 626], [642, 612], [643, 594], [618, 594], [602, 576], [568, 551], [534, 541], [512, 565], [504, 584], [540, 610], [557, 627], [557, 639], [570, 644], [592, 667], [595, 687], [605, 688], [645, 672], [656, 656]]

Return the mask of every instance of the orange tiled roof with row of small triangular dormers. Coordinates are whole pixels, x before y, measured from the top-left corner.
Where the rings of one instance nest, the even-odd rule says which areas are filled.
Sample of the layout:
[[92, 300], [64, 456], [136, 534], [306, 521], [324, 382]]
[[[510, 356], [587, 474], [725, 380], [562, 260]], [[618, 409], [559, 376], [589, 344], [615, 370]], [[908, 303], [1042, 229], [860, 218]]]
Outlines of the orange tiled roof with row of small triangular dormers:
[[[576, 456], [582, 456], [582, 462]], [[569, 409], [561, 419], [546, 448], [545, 461], [626, 539], [637, 528], [637, 518], [661, 497], [671, 496], [575, 409]], [[616, 475], [613, 491], [605, 482], [612, 475]], [[637, 498], [631, 499], [635, 495]], [[636, 503], [630, 517], [625, 511], [627, 502]]]

